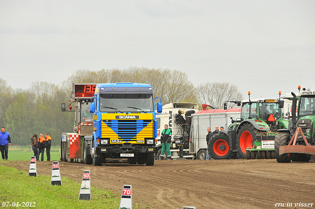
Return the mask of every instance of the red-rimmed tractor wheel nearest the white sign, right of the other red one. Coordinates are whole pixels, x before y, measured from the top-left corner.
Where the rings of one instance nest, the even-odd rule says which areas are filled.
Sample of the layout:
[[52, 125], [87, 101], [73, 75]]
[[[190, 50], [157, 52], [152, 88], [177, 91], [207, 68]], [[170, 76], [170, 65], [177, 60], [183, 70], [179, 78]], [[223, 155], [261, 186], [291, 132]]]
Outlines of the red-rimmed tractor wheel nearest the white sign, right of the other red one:
[[237, 134], [237, 150], [242, 158], [246, 158], [246, 148], [252, 148], [256, 136], [260, 136], [261, 131], [255, 129], [252, 124], [244, 124]]

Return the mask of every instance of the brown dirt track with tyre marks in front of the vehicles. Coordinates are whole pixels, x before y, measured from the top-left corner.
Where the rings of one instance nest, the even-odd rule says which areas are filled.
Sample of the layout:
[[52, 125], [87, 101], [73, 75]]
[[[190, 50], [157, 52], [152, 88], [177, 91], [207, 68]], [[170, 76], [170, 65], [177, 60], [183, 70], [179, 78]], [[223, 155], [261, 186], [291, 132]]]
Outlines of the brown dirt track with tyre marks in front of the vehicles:
[[[52, 162], [37, 161], [38, 175], [51, 175]], [[29, 170], [29, 162], [10, 166]], [[315, 161], [277, 163], [263, 160], [156, 160], [154, 166], [107, 163], [102, 166], [60, 162], [61, 175], [81, 183], [84, 170], [91, 184], [120, 197], [132, 185], [133, 203], [153, 209], [268, 209], [276, 203], [314, 203]], [[92, 194], [93, 198], [93, 194]], [[277, 207], [276, 207], [277, 208]], [[283, 207], [281, 207], [283, 208]], [[296, 207], [299, 208], [299, 207]]]

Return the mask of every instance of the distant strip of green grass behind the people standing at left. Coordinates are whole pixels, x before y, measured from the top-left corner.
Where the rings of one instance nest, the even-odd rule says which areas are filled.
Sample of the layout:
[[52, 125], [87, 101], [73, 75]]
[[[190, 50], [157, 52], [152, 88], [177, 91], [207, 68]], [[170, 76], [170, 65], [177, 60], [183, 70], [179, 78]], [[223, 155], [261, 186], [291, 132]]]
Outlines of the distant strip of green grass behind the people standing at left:
[[[58, 146], [52, 146], [50, 149], [50, 160], [51, 161], [58, 161], [60, 160], [59, 157], [59, 148]], [[8, 159], [9, 160], [31, 160], [31, 157], [34, 156], [34, 152], [31, 147], [19, 147], [19, 146], [9, 146], [8, 150]], [[39, 156], [40, 160], [41, 155]], [[1, 159], [1, 158], [0, 158]], [[44, 152], [44, 160], [47, 160], [46, 156], [46, 149]]]

